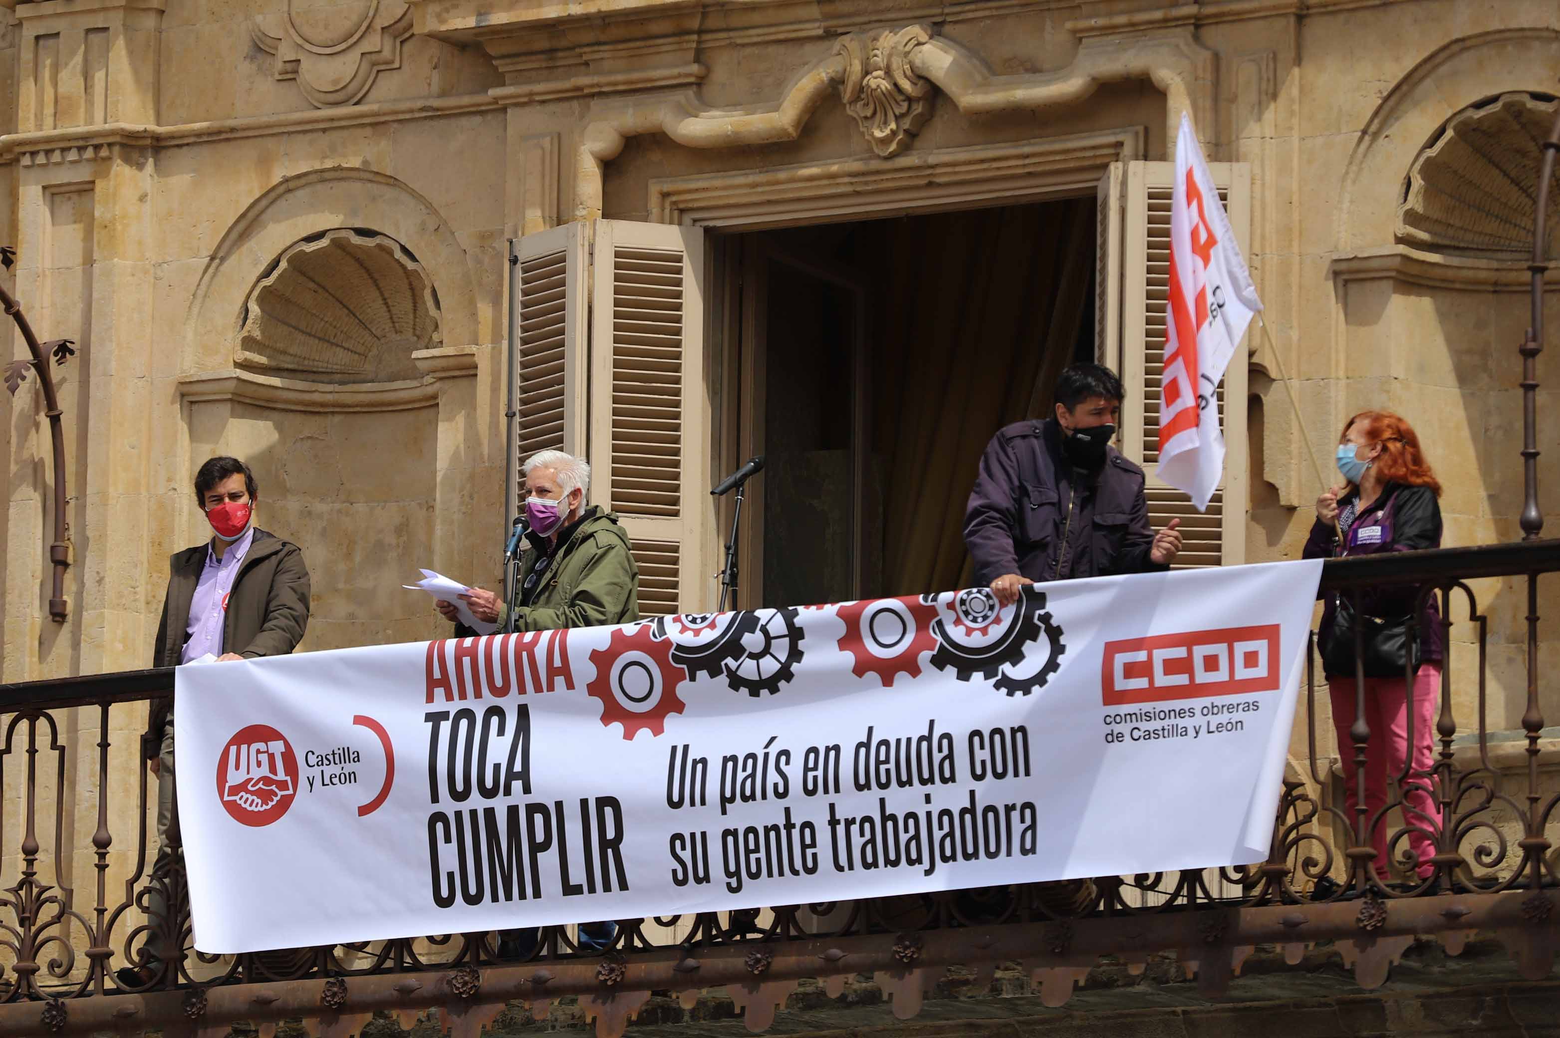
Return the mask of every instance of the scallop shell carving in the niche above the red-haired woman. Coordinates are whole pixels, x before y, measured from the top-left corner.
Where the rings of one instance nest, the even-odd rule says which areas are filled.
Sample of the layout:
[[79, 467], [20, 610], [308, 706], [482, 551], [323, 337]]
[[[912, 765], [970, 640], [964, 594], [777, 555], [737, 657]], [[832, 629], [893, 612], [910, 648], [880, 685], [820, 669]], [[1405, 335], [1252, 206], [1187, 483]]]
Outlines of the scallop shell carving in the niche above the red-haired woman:
[[[1526, 256], [1538, 204], [1538, 144], [1560, 101], [1527, 92], [1471, 105], [1441, 126], [1409, 169], [1398, 208], [1398, 240], [1418, 248]], [[1560, 237], [1560, 189], [1549, 194], [1548, 226]]]

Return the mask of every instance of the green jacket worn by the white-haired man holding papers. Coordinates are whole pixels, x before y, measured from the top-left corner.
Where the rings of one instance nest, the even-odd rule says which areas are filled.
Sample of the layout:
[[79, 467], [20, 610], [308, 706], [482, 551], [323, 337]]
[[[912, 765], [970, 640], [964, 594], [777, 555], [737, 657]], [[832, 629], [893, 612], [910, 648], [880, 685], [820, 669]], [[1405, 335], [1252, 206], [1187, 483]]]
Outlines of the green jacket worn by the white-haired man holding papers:
[[[532, 548], [521, 553], [521, 582], [540, 559], [541, 553]], [[505, 606], [498, 617], [499, 629], [507, 617]], [[629, 535], [616, 515], [593, 504], [558, 548], [530, 606], [519, 607], [515, 631], [601, 627], [638, 618], [640, 567], [629, 551]]]

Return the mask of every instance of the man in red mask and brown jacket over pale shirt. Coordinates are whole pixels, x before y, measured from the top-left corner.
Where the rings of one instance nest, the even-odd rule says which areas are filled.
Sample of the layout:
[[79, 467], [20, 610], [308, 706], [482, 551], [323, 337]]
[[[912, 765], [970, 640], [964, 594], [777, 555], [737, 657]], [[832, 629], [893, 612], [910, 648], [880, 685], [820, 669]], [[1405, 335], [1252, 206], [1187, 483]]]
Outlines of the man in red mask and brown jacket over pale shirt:
[[[309, 626], [309, 568], [298, 545], [254, 526], [257, 498], [254, 473], [237, 457], [212, 457], [200, 467], [195, 503], [211, 523], [212, 539], [168, 560], [168, 592], [151, 649], [154, 667], [285, 656], [303, 640]], [[158, 776], [154, 876], [167, 874], [178, 843], [168, 706], [167, 701], [153, 704], [151, 724], [142, 740], [148, 766]], [[159, 946], [167, 940], [167, 901], [161, 883], [153, 883], [148, 907], [153, 937], [137, 966], [119, 971], [125, 986], [156, 980], [161, 963], [173, 958], [170, 947]]]

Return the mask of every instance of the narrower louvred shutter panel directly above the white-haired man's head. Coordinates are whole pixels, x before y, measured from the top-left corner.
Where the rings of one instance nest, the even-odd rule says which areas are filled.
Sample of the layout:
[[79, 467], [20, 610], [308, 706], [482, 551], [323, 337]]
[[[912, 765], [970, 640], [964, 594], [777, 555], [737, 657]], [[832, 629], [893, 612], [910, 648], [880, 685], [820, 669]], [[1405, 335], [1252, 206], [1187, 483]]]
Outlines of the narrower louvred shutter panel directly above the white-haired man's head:
[[[587, 256], [590, 226], [527, 234], [515, 247], [512, 292], [519, 311], [515, 342], [516, 465], [537, 451], [585, 450]], [[515, 473], [516, 485], [524, 476]], [[509, 501], [513, 515], [516, 501]]]

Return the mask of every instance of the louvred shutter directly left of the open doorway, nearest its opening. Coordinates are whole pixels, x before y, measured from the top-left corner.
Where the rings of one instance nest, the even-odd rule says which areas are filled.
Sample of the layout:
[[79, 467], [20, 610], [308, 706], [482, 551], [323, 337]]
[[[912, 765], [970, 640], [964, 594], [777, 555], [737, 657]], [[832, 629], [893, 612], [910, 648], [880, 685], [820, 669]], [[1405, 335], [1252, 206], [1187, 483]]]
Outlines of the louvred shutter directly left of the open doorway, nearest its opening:
[[694, 612], [711, 515], [704, 407], [704, 231], [597, 220], [590, 460], [594, 499], [622, 520], [640, 612]]

